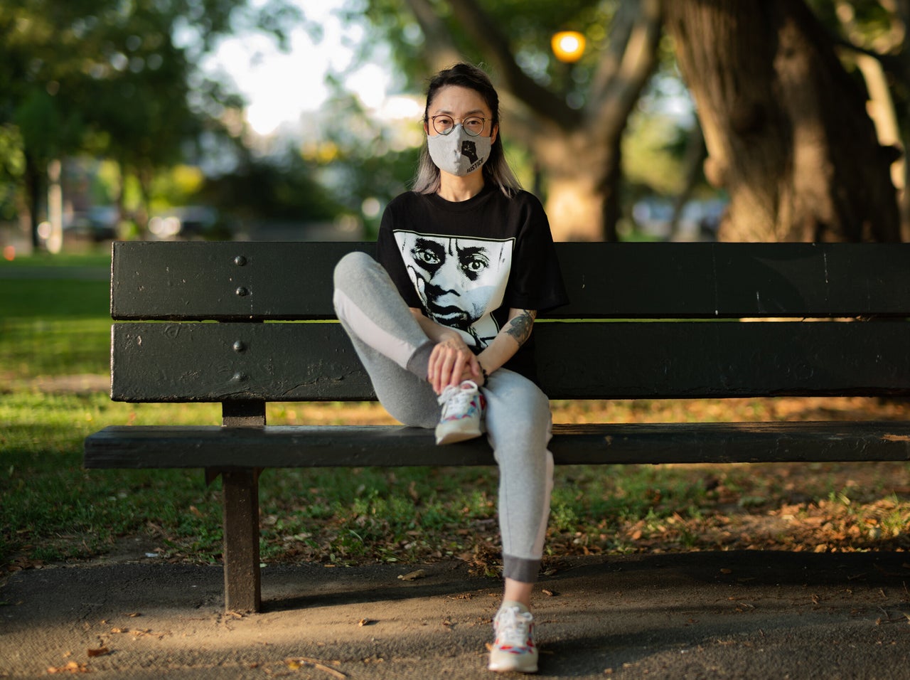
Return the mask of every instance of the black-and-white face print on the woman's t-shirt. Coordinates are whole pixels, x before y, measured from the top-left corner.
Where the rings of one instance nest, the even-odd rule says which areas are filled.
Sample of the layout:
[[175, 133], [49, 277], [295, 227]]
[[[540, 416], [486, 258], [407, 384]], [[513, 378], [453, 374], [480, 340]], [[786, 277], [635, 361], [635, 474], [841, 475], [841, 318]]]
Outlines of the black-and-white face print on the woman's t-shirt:
[[401, 257], [427, 316], [459, 330], [482, 349], [499, 331], [492, 312], [502, 305], [511, 270], [512, 239], [454, 239], [396, 231]]

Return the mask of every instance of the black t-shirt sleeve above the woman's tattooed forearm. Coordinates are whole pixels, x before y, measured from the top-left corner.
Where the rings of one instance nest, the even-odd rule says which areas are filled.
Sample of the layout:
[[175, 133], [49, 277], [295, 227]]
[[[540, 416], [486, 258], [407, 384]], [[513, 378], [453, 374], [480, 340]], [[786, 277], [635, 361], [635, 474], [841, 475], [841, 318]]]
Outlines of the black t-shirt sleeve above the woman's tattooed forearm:
[[516, 310], [551, 310], [568, 304], [569, 296], [562, 281], [547, 214], [537, 198], [527, 193], [523, 198], [522, 224], [505, 302]]

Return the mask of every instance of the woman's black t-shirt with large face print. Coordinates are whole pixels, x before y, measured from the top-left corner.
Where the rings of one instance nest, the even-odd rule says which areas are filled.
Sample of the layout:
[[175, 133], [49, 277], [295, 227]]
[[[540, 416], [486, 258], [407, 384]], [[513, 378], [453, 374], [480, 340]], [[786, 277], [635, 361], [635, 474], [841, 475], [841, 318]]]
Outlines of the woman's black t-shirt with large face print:
[[[540, 201], [489, 184], [466, 201], [409, 191], [382, 216], [379, 262], [409, 307], [458, 330], [480, 353], [510, 309], [551, 310], [569, 299]], [[533, 335], [506, 364], [535, 380]]]

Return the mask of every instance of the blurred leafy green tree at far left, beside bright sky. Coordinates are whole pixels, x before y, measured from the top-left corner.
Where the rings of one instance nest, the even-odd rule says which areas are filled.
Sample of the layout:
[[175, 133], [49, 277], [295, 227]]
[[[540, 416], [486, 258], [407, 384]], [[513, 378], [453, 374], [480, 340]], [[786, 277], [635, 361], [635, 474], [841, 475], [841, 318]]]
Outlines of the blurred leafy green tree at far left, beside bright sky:
[[[250, 4], [252, 5], [252, 4]], [[219, 36], [257, 27], [279, 41], [300, 15], [284, 0], [5, 0], [0, 5], [0, 125], [17, 130], [20, 160], [5, 161], [25, 186], [37, 243], [47, 167], [80, 152], [115, 159], [146, 207], [155, 174], [187, 156], [205, 132], [230, 135], [238, 96], [195, 65]]]

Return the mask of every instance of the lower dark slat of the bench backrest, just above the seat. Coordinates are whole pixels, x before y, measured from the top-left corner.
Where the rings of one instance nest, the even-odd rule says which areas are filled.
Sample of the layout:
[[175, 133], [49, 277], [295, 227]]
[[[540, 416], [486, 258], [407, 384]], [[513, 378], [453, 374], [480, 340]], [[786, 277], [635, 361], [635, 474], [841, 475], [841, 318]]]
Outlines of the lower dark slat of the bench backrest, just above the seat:
[[[534, 332], [551, 399], [910, 393], [907, 323], [550, 322]], [[113, 343], [116, 401], [375, 399], [337, 323], [117, 323]]]

